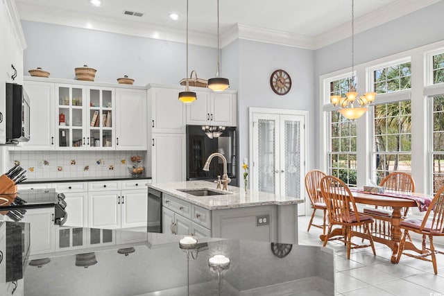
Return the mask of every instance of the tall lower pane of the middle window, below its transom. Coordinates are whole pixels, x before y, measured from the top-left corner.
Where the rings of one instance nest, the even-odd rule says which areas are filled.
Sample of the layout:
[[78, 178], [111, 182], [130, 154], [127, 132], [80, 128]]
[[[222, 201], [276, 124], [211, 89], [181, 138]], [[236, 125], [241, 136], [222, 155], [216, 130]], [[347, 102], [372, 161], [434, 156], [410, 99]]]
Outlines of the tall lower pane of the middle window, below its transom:
[[374, 176], [377, 184], [394, 171], [411, 172], [411, 101], [374, 106]]

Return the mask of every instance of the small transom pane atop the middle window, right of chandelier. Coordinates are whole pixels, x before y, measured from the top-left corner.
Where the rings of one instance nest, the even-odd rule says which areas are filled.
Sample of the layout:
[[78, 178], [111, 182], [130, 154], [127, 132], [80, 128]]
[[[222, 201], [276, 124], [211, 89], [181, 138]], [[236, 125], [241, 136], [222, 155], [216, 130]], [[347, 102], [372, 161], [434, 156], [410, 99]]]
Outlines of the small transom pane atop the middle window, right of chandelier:
[[385, 94], [411, 88], [411, 63], [405, 62], [373, 71], [375, 92]]

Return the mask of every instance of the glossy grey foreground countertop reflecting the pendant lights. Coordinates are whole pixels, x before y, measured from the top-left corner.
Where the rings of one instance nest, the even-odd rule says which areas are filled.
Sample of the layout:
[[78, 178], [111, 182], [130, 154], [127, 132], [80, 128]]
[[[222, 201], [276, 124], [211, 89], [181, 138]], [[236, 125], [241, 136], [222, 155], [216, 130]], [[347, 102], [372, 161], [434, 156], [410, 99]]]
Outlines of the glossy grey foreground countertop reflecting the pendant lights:
[[[326, 247], [196, 237], [199, 248], [188, 251], [187, 261], [187, 252], [178, 243], [183, 236], [113, 230], [113, 237], [137, 234], [139, 240], [86, 243], [75, 250], [28, 256], [21, 254], [22, 237], [26, 241], [37, 230], [32, 223], [26, 225], [0, 222], [0, 238], [6, 236], [8, 250], [2, 250], [7, 266], [0, 295], [10, 295], [3, 289], [13, 281], [19, 286], [14, 296], [207, 296], [218, 295], [219, 289], [219, 295], [232, 296], [288, 295], [289, 291], [334, 295], [334, 254]], [[11, 246], [19, 253], [10, 252]], [[217, 272], [208, 263], [215, 255], [230, 259], [221, 272], [220, 286]]]

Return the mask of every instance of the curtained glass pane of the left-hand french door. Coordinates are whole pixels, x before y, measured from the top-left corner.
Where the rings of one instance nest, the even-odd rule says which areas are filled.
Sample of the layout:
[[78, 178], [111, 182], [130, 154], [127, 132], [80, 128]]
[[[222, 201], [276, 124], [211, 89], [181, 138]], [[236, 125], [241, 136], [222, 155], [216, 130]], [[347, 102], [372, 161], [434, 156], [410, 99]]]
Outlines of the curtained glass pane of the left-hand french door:
[[259, 119], [258, 123], [258, 189], [275, 193], [275, 121]]

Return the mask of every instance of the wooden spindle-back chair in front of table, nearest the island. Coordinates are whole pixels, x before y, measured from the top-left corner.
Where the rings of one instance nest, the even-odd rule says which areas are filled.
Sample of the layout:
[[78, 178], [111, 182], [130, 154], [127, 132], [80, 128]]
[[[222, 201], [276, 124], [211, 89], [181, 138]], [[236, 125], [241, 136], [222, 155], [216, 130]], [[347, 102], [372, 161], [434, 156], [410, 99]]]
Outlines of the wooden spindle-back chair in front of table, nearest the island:
[[[339, 178], [327, 175], [321, 180], [321, 193], [327, 204], [328, 211], [328, 231], [324, 239], [324, 247], [332, 234], [333, 225], [342, 227], [343, 238], [340, 239], [347, 246], [347, 259], [350, 259], [350, 250], [361, 247], [372, 247], [373, 254], [376, 255], [373, 237], [368, 228], [368, 224], [373, 223], [373, 218], [359, 213], [355, 204], [355, 198], [347, 185]], [[363, 228], [364, 232], [357, 232], [355, 228]], [[352, 237], [368, 239], [369, 245], [357, 245], [352, 243]]]

